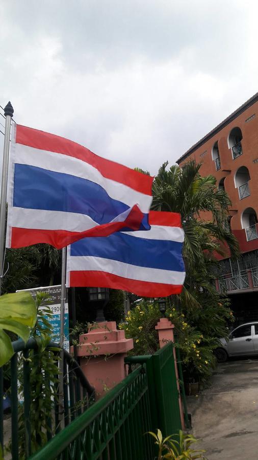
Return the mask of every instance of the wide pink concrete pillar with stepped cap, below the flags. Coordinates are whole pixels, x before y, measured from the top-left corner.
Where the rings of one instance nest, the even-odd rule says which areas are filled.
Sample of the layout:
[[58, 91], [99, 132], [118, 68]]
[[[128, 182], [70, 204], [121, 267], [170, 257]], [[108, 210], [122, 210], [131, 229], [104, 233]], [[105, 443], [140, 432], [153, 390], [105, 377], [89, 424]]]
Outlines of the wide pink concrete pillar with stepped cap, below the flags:
[[115, 321], [97, 323], [80, 336], [77, 354], [81, 357], [82, 371], [95, 387], [97, 398], [124, 379], [124, 357], [132, 348], [133, 339], [126, 339], [124, 331], [116, 329]]

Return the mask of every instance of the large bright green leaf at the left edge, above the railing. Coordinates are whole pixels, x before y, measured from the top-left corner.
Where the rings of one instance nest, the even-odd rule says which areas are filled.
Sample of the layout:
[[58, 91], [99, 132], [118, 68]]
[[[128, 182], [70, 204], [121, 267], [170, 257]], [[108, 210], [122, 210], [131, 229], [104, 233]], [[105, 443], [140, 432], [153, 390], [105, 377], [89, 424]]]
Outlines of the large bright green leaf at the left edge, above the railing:
[[36, 319], [36, 304], [29, 292], [0, 297], [0, 367], [13, 355], [11, 339], [4, 330], [14, 332], [27, 341]]

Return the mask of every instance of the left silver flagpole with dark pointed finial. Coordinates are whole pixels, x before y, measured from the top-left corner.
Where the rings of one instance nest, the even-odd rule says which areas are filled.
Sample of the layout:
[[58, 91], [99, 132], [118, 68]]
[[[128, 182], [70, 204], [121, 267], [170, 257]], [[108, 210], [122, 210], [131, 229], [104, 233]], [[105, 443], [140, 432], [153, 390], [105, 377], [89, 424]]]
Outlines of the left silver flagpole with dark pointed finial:
[[5, 231], [6, 231], [6, 196], [7, 196], [7, 177], [10, 150], [10, 133], [11, 119], [13, 117], [13, 107], [11, 102], [4, 109], [5, 123], [5, 143], [2, 169], [2, 187], [1, 187], [1, 204], [0, 204], [0, 295], [2, 294], [3, 273], [5, 263]]

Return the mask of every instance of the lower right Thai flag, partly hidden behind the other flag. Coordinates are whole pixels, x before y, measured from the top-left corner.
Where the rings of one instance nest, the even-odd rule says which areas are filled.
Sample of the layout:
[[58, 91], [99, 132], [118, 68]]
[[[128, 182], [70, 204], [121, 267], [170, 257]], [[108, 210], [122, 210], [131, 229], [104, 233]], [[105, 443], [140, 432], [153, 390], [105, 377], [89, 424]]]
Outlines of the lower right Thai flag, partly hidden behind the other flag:
[[84, 238], [68, 248], [67, 286], [108, 287], [145, 297], [182, 291], [185, 266], [180, 215], [151, 211], [147, 232]]

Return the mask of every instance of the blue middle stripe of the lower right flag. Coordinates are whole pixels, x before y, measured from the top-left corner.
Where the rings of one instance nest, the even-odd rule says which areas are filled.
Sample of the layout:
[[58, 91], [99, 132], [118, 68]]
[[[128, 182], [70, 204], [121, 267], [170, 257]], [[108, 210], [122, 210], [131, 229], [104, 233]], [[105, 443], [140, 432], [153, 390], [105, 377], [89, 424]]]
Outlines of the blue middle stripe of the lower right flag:
[[140, 267], [185, 271], [183, 243], [150, 240], [116, 233], [106, 238], [84, 238], [71, 245], [72, 256], [94, 256]]

